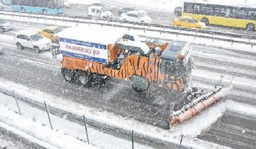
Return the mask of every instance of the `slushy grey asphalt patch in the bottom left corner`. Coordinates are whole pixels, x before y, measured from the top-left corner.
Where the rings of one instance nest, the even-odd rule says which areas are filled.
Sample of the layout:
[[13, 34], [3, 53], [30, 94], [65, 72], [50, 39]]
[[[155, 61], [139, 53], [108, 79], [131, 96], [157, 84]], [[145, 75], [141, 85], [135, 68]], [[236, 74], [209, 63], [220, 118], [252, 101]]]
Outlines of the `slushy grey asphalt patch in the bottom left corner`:
[[44, 147], [32, 143], [13, 132], [8, 132], [5, 128], [0, 128], [0, 143], [2, 143], [0, 144], [0, 149], [44, 149]]

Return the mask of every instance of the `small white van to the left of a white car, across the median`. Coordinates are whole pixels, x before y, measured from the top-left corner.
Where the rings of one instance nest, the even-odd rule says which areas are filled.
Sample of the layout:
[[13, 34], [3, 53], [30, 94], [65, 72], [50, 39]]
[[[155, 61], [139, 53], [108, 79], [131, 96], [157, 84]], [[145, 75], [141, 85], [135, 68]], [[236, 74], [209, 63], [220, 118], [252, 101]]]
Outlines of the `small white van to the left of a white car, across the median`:
[[112, 18], [113, 14], [103, 6], [89, 6], [88, 17]]

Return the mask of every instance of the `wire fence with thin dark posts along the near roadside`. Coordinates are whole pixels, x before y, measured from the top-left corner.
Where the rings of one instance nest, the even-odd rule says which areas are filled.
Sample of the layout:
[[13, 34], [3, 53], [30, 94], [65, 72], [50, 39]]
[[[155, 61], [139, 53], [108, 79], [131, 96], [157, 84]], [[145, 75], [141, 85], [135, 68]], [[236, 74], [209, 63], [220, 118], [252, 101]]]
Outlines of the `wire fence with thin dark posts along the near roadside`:
[[[47, 102], [25, 97], [21, 93], [1, 88], [0, 93], [10, 97], [0, 97], [0, 105], [16, 111], [45, 126], [59, 130], [88, 144], [101, 148], [198, 148], [182, 141], [171, 142], [147, 134], [113, 126], [107, 122], [77, 115], [57, 108]], [[182, 138], [181, 138], [182, 139]]]

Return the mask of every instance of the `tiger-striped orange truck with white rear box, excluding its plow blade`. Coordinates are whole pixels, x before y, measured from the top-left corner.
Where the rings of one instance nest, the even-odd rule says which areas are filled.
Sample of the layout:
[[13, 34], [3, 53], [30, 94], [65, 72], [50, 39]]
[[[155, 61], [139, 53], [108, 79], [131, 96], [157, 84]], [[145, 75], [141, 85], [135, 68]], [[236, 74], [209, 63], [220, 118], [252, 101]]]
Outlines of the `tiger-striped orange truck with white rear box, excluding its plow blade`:
[[146, 92], [151, 104], [170, 109], [171, 113], [202, 95], [189, 86], [190, 43], [149, 49], [131, 34], [89, 27], [71, 27], [58, 36], [63, 55], [61, 72], [68, 82], [90, 87], [101, 86], [106, 78], [127, 80], [134, 91]]

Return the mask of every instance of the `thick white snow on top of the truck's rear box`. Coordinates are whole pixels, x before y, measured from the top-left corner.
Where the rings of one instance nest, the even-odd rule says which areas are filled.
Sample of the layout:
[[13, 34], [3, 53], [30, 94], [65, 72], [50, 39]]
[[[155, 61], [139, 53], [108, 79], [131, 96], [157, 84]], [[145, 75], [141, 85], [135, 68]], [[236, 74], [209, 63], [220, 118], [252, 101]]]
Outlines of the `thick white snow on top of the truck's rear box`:
[[123, 35], [123, 32], [118, 32], [114, 29], [104, 29], [101, 27], [97, 29], [96, 27], [88, 26], [70, 27], [58, 33], [60, 38], [101, 43], [104, 45], [114, 44]]

